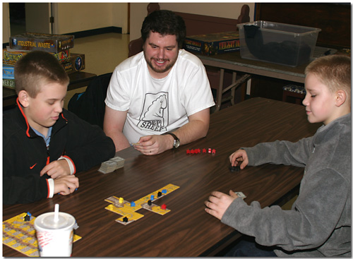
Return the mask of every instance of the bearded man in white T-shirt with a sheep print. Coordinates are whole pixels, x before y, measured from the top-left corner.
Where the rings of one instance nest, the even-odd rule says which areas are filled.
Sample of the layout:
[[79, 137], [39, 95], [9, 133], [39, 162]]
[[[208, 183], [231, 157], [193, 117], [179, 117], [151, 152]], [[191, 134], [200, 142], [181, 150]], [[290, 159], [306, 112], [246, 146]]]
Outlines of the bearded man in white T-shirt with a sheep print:
[[201, 60], [181, 49], [186, 27], [180, 16], [154, 11], [141, 35], [143, 52], [112, 74], [104, 132], [116, 151], [133, 145], [144, 155], [157, 155], [205, 137], [215, 102]]

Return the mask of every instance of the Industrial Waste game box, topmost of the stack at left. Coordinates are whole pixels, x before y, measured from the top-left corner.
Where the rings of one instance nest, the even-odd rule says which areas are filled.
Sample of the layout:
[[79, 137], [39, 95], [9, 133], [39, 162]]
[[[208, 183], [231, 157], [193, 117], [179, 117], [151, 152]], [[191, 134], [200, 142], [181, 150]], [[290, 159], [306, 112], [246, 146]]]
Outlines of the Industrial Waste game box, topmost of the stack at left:
[[73, 48], [73, 35], [25, 32], [10, 37], [10, 48], [58, 53]]

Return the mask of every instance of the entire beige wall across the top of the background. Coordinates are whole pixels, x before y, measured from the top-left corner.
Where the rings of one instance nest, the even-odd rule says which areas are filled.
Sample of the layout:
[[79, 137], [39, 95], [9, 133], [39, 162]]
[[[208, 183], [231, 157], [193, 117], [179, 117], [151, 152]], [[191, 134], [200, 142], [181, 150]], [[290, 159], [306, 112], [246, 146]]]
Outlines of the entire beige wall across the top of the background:
[[[244, 3], [160, 3], [160, 8], [184, 13], [196, 13], [237, 19]], [[253, 20], [254, 3], [250, 6], [250, 19]], [[130, 40], [140, 37], [140, 28], [147, 15], [146, 3], [131, 3]], [[53, 33], [63, 34], [92, 30], [104, 27], [119, 27], [128, 32], [127, 3], [56, 3], [54, 4]], [[8, 4], [3, 3], [3, 43], [10, 37]]]

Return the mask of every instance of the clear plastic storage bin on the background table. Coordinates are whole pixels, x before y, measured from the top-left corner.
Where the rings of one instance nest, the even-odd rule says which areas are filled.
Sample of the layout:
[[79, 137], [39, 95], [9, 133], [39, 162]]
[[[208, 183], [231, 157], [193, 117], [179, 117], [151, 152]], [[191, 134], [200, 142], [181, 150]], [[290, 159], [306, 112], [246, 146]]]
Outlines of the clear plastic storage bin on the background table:
[[257, 20], [240, 23], [240, 56], [243, 59], [298, 66], [313, 59], [321, 29]]

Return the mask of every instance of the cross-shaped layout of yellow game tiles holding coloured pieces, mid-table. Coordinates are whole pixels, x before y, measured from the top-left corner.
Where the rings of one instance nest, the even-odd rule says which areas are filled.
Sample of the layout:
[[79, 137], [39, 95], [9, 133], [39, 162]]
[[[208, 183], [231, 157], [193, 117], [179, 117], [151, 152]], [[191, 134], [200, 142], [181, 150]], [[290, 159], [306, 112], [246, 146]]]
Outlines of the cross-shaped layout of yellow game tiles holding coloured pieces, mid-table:
[[[167, 195], [167, 194], [171, 193], [172, 191], [177, 190], [177, 188], [179, 188], [179, 186], [175, 186], [173, 184], [168, 184], [167, 186], [164, 186], [163, 188], [160, 188], [159, 190], [157, 190], [153, 193], [150, 193], [148, 195], [145, 195], [143, 198], [140, 198], [139, 200], [136, 200], [135, 202], [133, 202], [135, 204], [135, 206], [131, 206], [131, 203], [129, 203], [126, 200], [124, 200], [124, 203], [121, 204], [121, 203], [119, 203], [119, 198], [116, 198], [115, 196], [111, 196], [111, 197], [105, 199], [105, 201], [112, 203], [112, 204], [105, 207], [105, 209], [121, 215], [122, 217], [119, 217], [115, 221], [119, 222], [121, 224], [124, 224], [124, 225], [131, 224], [131, 222], [134, 222], [134, 221], [140, 219], [141, 217], [144, 217], [142, 214], [136, 212], [137, 210], [140, 210], [140, 208], [144, 208], [145, 210], [150, 210], [150, 211], [158, 213], [160, 215], [164, 215], [167, 212], [169, 212], [170, 210], [168, 210], [167, 208], [162, 209], [160, 206], [153, 204], [152, 200], [150, 200], [150, 197], [152, 195], [153, 195], [153, 197], [155, 197], [155, 195], [157, 195], [157, 198], [154, 199], [154, 200], [157, 200], [157, 199], [163, 197], [164, 195]], [[158, 195], [159, 193], [160, 193], [160, 195]], [[124, 221], [124, 217], [126, 217], [128, 219], [127, 222]]]

